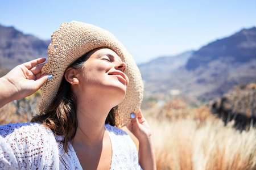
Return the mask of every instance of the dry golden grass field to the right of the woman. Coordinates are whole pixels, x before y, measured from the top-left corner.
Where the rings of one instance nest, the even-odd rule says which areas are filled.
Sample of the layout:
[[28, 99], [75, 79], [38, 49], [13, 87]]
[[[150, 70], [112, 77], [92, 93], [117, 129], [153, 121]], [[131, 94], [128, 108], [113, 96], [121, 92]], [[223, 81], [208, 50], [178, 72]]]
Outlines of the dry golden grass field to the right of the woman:
[[143, 111], [152, 130], [158, 169], [253, 169], [256, 130], [242, 133], [179, 99]]

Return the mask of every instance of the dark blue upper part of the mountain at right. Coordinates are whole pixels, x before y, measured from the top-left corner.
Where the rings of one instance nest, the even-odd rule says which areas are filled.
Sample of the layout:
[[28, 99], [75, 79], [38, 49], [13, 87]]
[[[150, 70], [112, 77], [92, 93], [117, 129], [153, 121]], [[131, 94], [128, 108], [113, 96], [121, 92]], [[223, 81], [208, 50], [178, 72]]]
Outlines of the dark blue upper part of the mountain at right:
[[188, 60], [187, 70], [196, 70], [218, 59], [245, 63], [256, 58], [256, 28], [242, 29], [230, 37], [210, 42]]

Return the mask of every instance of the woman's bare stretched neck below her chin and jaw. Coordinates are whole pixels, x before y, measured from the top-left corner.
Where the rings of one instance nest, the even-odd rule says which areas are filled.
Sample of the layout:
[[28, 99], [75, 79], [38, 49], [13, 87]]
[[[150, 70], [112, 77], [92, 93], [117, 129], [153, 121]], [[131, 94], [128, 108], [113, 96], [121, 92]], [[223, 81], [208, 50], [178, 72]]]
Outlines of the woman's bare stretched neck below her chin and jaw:
[[79, 99], [77, 97], [77, 131], [73, 143], [87, 147], [96, 147], [102, 144], [105, 132], [105, 120], [111, 105], [104, 100], [95, 100], [97, 97]]

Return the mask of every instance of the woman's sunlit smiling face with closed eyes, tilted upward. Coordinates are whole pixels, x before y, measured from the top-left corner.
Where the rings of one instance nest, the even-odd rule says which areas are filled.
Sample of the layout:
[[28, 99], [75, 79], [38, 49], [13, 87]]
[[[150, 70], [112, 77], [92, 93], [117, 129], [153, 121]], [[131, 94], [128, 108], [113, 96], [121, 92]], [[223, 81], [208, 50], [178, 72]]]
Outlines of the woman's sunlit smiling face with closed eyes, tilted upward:
[[108, 48], [93, 50], [77, 74], [79, 93], [119, 96], [122, 94], [123, 99], [129, 83], [125, 70], [126, 63], [122, 62], [113, 50]]

